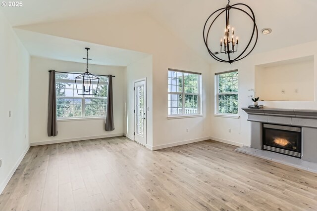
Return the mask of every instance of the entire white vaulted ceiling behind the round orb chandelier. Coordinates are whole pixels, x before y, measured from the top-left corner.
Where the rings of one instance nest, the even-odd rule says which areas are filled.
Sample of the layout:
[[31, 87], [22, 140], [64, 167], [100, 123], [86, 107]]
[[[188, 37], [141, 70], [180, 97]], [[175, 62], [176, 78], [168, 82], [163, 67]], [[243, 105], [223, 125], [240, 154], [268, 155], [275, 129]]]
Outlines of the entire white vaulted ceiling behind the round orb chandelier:
[[[205, 59], [212, 61], [203, 42], [207, 17], [224, 7], [226, 0], [28, 0], [20, 8], [2, 7], [12, 26], [79, 19], [105, 14], [148, 13]], [[317, 40], [317, 0], [231, 0], [253, 9], [259, 31], [269, 27], [272, 33], [259, 32], [255, 52], [263, 52]], [[249, 39], [250, 26], [243, 17], [231, 16], [232, 25], [242, 41]], [[220, 26], [220, 25], [219, 25]], [[222, 27], [222, 25], [221, 25]], [[221, 28], [220, 27], [220, 28]], [[223, 26], [224, 28], [224, 26]], [[214, 35], [217, 49], [222, 34]]]

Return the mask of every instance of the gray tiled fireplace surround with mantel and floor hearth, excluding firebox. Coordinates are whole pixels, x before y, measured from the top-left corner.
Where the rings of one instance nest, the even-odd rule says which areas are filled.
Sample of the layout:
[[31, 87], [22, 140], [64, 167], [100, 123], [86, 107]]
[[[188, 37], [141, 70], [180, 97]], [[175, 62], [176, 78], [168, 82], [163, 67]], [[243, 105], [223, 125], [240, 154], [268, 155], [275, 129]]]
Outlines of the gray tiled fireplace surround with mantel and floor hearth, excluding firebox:
[[[317, 110], [242, 108], [251, 122], [251, 147], [238, 152], [317, 172]], [[302, 159], [262, 149], [263, 123], [302, 127]]]

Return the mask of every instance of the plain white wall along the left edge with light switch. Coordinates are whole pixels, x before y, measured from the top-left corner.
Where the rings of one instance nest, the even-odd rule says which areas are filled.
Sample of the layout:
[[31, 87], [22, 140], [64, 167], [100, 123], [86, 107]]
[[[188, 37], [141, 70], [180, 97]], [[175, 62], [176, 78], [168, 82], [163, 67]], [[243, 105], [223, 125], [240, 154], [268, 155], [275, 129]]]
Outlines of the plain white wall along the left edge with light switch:
[[[0, 193], [29, 149], [30, 56], [0, 11]], [[11, 111], [11, 117], [9, 117]]]

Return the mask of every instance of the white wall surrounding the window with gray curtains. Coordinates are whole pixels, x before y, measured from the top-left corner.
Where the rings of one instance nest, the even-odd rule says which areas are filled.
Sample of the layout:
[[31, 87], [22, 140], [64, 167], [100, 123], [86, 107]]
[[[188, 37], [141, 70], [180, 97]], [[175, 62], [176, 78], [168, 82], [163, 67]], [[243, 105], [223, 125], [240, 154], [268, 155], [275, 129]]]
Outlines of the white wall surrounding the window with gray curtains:
[[113, 78], [113, 131], [105, 131], [105, 119], [57, 120], [57, 136], [47, 135], [49, 70], [60, 72], [84, 72], [86, 64], [31, 57], [30, 65], [30, 142], [31, 145], [83, 140], [97, 137], [123, 135], [125, 126], [126, 67], [92, 65], [94, 74], [114, 75]]

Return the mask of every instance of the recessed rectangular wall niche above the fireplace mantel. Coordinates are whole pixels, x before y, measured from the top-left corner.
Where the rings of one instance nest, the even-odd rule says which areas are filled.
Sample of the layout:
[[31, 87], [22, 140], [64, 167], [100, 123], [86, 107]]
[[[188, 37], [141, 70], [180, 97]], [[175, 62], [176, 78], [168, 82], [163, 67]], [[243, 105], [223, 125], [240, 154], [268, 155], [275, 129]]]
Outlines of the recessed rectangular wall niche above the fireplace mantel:
[[314, 101], [314, 56], [255, 66], [255, 89], [264, 101]]

